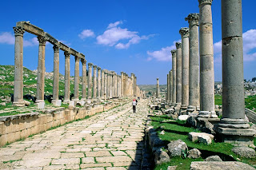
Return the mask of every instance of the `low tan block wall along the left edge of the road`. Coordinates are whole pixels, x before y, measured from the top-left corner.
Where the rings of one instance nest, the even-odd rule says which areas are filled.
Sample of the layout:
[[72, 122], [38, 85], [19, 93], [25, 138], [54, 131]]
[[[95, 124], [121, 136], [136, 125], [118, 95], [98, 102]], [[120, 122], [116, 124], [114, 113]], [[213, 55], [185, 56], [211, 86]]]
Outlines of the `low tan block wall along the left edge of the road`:
[[92, 116], [112, 109], [119, 103], [106, 103], [94, 105], [87, 108], [46, 110], [45, 114], [26, 113], [8, 117], [1, 117], [0, 120], [0, 146], [26, 138], [39, 132], [45, 132], [49, 128], [64, 125], [70, 121]]

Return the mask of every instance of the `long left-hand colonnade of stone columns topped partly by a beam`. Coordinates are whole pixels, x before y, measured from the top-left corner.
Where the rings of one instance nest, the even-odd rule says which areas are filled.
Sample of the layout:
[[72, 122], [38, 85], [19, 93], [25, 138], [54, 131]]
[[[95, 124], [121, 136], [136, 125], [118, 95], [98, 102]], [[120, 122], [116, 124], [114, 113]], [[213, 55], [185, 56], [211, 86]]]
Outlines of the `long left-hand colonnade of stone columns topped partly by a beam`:
[[[143, 92], [138, 88], [137, 77], [131, 73], [118, 75], [114, 71], [101, 69], [97, 65], [88, 63], [88, 77], [86, 75], [86, 58], [62, 42], [58, 42], [50, 34], [30, 24], [30, 22], [17, 22], [14, 27], [15, 52], [14, 52], [14, 102], [13, 105], [24, 106], [23, 101], [23, 34], [25, 31], [38, 36], [38, 82], [36, 103], [44, 102], [45, 86], [45, 49], [46, 42], [53, 44], [54, 49], [54, 82], [53, 101], [54, 105], [60, 105], [59, 94], [59, 51], [65, 55], [65, 95], [64, 102], [70, 101], [70, 55], [74, 56], [74, 100], [86, 101], [96, 99], [110, 99], [113, 97], [142, 97]], [[79, 64], [82, 62], [82, 97], [79, 94]], [[94, 70], [92, 70], [94, 69]], [[93, 71], [93, 72], [92, 72]], [[88, 82], [87, 82], [88, 81]], [[87, 90], [86, 90], [87, 89]]]

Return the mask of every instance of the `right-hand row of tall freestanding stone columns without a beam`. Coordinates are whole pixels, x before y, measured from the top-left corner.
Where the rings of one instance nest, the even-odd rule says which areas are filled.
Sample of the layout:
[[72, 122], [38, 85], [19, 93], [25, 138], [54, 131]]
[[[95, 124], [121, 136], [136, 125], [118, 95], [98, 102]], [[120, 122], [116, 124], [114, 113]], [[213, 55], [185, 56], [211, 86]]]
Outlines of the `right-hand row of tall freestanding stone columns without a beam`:
[[[172, 85], [170, 77], [167, 78], [166, 99], [173, 105], [182, 104], [181, 109], [189, 112], [198, 109], [198, 117], [213, 120], [217, 115], [214, 111], [212, 0], [198, 2], [199, 14], [185, 18], [189, 28], [179, 31], [182, 43], [177, 42], [176, 49], [171, 51], [173, 76]], [[242, 53], [242, 1], [222, 0], [223, 113], [216, 130], [223, 141], [253, 144], [255, 132], [245, 121]]]

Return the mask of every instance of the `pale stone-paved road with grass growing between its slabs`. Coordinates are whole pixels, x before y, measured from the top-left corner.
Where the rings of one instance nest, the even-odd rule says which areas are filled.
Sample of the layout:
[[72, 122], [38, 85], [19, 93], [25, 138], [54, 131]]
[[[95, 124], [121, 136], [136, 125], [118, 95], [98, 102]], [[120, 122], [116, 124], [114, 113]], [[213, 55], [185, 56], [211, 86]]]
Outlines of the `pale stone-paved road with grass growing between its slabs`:
[[0, 148], [0, 169], [139, 169], [148, 109], [126, 104]]

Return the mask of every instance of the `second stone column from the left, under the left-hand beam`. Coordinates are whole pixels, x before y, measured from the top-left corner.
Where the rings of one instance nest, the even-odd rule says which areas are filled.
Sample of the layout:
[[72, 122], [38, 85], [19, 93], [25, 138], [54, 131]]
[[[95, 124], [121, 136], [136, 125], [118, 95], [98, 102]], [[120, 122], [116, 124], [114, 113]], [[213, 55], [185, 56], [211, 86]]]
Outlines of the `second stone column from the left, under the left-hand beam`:
[[45, 70], [46, 70], [46, 38], [38, 37], [38, 83], [37, 83], [37, 100], [36, 103], [44, 102], [45, 93]]

